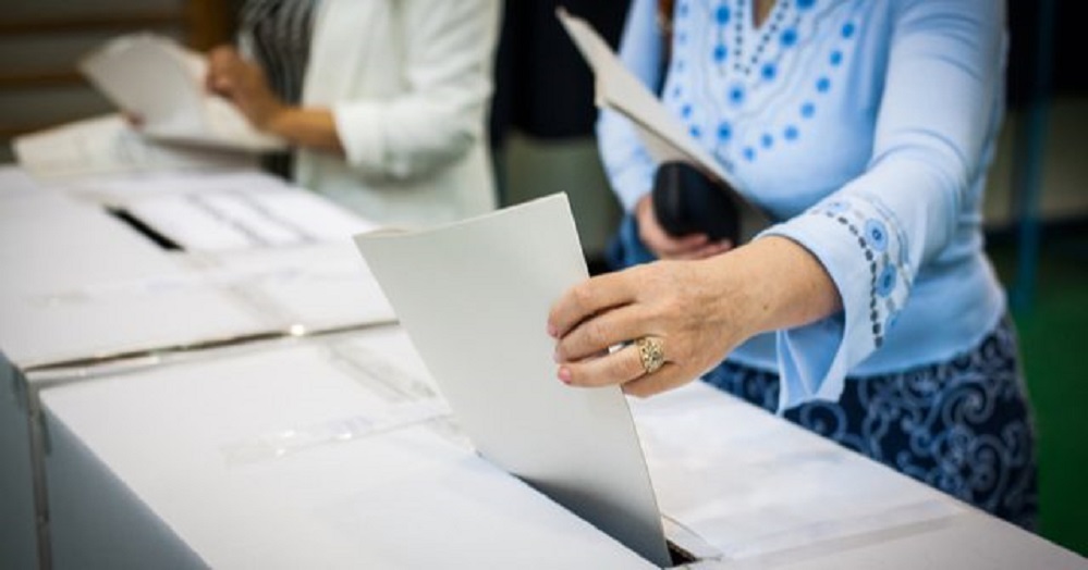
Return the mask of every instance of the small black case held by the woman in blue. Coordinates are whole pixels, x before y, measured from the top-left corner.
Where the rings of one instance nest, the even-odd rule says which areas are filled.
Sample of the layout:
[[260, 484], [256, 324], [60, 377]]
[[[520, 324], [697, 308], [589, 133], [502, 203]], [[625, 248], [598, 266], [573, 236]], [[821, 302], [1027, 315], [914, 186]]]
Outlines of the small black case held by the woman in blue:
[[664, 162], [653, 176], [653, 211], [664, 231], [680, 237], [707, 234], [739, 244], [741, 210], [734, 190], [686, 162]]

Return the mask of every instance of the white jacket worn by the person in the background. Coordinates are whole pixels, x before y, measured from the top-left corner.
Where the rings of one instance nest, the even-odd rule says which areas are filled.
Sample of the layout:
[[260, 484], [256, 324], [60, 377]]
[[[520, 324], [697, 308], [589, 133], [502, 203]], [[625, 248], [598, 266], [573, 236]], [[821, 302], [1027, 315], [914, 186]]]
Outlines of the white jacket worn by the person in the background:
[[303, 106], [332, 110], [346, 162], [299, 149], [296, 182], [384, 225], [496, 207], [486, 119], [499, 0], [323, 0]]

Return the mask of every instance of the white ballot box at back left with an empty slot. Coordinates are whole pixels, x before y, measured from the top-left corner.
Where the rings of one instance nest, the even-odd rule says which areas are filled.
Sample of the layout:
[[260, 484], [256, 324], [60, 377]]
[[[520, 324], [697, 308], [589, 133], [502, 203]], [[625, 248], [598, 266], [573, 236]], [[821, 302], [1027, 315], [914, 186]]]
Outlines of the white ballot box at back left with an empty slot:
[[[147, 182], [155, 184], [143, 184]], [[0, 169], [0, 389], [5, 391], [0, 399], [0, 503], [12, 505], [0, 509], [5, 531], [0, 552], [5, 560], [27, 560], [30, 567], [41, 552], [48, 553], [48, 512], [40, 488], [35, 491], [44, 484], [40, 436], [35, 433], [36, 373], [45, 373], [50, 383], [77, 382], [101, 364], [133, 365], [174, 352], [394, 320], [346, 235], [341, 240], [331, 234], [366, 224], [352, 222], [349, 213], [319, 197], [244, 172], [78, 183], [89, 187], [65, 184], [72, 186]], [[82, 189], [73, 189], [77, 187]], [[87, 194], [90, 187], [112, 188], [133, 201], [137, 195], [150, 200], [157, 191], [213, 194], [221, 188], [237, 195], [243, 188], [265, 189], [278, 205], [268, 211], [283, 220], [292, 220], [292, 211], [317, 211], [346, 225], [328, 224], [323, 231], [329, 235], [292, 244], [185, 251], [164, 248], [143, 222], [119, 214], [118, 203]], [[237, 225], [229, 216], [216, 220]], [[51, 372], [56, 369], [66, 372]], [[33, 516], [20, 507], [26, 501], [36, 505]], [[26, 536], [35, 534], [39, 540], [34, 542], [41, 544], [27, 544]]]

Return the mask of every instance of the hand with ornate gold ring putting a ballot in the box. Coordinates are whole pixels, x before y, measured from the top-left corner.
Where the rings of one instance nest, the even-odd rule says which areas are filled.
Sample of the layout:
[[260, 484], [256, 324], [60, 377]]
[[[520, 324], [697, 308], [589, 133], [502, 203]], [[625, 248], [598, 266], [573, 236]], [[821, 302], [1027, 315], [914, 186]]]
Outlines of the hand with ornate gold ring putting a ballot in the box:
[[[729, 257], [729, 256], [724, 256]], [[732, 272], [723, 258], [658, 261], [585, 281], [552, 307], [559, 379], [577, 386], [620, 385], [649, 396], [685, 384], [718, 364], [750, 335], [743, 327]], [[647, 374], [634, 344], [659, 339], [664, 365]]]

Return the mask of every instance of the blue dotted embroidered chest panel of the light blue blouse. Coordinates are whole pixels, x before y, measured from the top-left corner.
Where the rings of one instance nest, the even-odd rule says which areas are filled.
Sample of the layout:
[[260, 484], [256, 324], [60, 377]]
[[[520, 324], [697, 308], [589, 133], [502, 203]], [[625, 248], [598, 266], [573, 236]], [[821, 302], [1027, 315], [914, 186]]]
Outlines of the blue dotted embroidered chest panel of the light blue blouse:
[[[686, 106], [704, 111], [685, 114], [683, 121], [723, 164], [766, 160], [762, 157], [789, 147], [775, 145], [775, 139], [797, 142], [810, 137], [818, 107], [844, 85], [854, 53], [848, 44], [857, 35], [856, 5], [779, 0], [758, 29], [751, 29], [750, 0], [677, 1], [665, 101], [677, 113]], [[814, 42], [820, 46], [819, 54], [803, 57], [808, 51], [800, 48]], [[798, 78], [804, 84], [793, 83]], [[722, 137], [722, 121], [762, 126], [731, 128], [731, 136]]]

